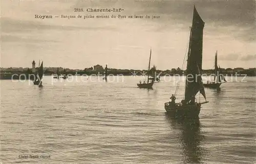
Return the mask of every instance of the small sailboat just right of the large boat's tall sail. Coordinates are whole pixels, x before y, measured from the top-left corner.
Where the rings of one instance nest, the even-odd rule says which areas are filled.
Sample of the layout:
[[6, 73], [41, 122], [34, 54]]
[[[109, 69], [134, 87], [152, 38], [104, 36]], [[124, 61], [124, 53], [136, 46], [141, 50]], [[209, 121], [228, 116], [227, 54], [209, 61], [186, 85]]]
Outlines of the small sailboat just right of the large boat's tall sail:
[[217, 51], [215, 53], [214, 73], [215, 73], [214, 81], [210, 82], [210, 83], [209, 83], [209, 81], [207, 81], [207, 84], [204, 84], [204, 87], [206, 87], [206, 88], [220, 88], [222, 83], [226, 83], [227, 82], [225, 77], [224, 77], [224, 75], [221, 74], [220, 65], [219, 65], [219, 67], [217, 65]]

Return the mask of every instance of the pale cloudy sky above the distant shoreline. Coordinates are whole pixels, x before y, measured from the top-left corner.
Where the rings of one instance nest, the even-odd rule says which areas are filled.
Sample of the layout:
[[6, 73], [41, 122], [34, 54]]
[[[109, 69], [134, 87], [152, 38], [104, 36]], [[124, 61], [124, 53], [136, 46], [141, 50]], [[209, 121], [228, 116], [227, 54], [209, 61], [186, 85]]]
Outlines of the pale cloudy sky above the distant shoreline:
[[[193, 8], [205, 22], [203, 69], [214, 68], [215, 52], [222, 68], [252, 68], [256, 63], [254, 0], [169, 1], [1, 1], [0, 67], [84, 69], [182, 68], [187, 53]], [[113, 9], [113, 12], [74, 12], [74, 8]], [[35, 18], [53, 15], [52, 19]], [[61, 15], [82, 18], [61, 18]], [[151, 18], [87, 18], [84, 15], [149, 15]], [[159, 16], [152, 19], [152, 15]], [[59, 17], [55, 17], [59, 16]], [[183, 67], [185, 68], [185, 67]]]

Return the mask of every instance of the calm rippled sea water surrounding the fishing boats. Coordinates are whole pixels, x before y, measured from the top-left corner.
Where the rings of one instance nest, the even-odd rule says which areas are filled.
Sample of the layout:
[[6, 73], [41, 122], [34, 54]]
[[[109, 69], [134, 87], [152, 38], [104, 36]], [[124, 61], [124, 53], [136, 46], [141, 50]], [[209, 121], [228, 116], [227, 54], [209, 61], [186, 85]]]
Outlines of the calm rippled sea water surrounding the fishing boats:
[[[146, 90], [139, 77], [113, 78], [52, 85], [45, 76], [43, 88], [1, 80], [2, 163], [255, 162], [256, 77], [205, 89], [200, 119], [183, 122], [164, 110], [174, 79]], [[181, 83], [177, 101], [183, 90]]]

